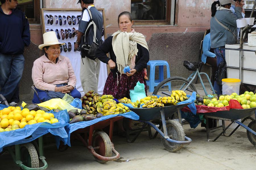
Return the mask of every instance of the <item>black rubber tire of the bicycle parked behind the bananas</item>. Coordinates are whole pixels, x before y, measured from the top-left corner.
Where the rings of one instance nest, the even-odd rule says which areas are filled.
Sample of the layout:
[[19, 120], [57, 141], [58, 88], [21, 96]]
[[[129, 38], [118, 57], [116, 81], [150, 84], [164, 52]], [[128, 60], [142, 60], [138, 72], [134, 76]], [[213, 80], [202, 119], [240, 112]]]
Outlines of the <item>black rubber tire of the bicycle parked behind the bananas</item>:
[[[158, 86], [156, 86], [156, 88], [154, 89], [153, 94], [157, 94], [157, 95], [159, 95], [159, 96], [166, 96], [166, 95], [160, 93], [160, 89], [161, 89], [166, 83], [172, 82], [172, 81], [180, 81], [180, 82], [189, 84], [189, 80], [187, 80], [187, 79], [185, 79], [185, 78], [183, 78], [183, 77], [170, 77], [170, 78], [167, 78], [167, 79], [163, 80], [161, 83], [159, 83]], [[197, 92], [197, 89], [195, 88], [195, 86], [194, 86], [192, 83], [189, 85], [189, 87], [191, 88], [191, 90]], [[166, 86], [164, 86], [164, 88], [165, 88], [165, 91], [169, 91], [169, 89], [166, 88]], [[177, 88], [177, 89], [171, 89], [171, 91], [172, 91], [172, 90], [179, 90], [179, 89], [178, 89], [178, 88]], [[171, 93], [172, 93], [172, 92], [170, 92], [170, 94], [171, 94]], [[192, 94], [192, 92], [189, 92], [189, 91], [187, 91], [187, 90], [185, 90], [185, 93], [186, 93], [186, 94]]]

